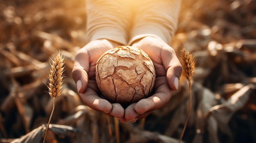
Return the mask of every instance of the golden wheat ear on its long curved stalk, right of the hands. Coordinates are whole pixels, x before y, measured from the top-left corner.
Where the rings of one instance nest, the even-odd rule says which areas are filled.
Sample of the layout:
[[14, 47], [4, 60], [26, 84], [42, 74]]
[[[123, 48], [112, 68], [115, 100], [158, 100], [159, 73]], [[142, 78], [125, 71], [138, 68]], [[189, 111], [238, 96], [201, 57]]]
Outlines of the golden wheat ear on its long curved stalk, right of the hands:
[[179, 143], [182, 140], [182, 136], [184, 135], [186, 125], [188, 124], [188, 121], [189, 121], [189, 116], [190, 116], [190, 112], [191, 112], [191, 104], [192, 104], [191, 78], [192, 78], [193, 74], [195, 73], [195, 59], [192, 56], [192, 53], [191, 52], [186, 52], [186, 49], [184, 47], [182, 47], [180, 55], [182, 57], [182, 68], [184, 70], [184, 75], [185, 75], [186, 79], [189, 82], [190, 103], [189, 103], [189, 113], [187, 115], [186, 122], [185, 122], [184, 128], [182, 130], [182, 134], [180, 136]]

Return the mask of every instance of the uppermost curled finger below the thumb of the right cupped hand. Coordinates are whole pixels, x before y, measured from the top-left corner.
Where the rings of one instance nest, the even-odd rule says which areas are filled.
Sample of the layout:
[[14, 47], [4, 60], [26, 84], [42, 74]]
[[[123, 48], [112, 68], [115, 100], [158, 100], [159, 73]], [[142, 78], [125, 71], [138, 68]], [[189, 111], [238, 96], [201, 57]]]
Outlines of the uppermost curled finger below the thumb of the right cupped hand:
[[169, 88], [168, 84], [159, 85], [154, 95], [138, 101], [134, 107], [135, 111], [138, 114], [143, 114], [161, 108], [171, 99], [172, 92], [173, 90]]

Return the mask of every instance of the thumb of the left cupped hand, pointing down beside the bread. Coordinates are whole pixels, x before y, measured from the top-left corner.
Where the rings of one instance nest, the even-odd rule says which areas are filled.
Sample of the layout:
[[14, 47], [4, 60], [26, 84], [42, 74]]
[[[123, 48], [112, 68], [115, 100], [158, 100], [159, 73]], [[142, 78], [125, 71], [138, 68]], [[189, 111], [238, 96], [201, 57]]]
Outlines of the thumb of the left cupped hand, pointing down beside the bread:
[[89, 56], [87, 56], [85, 49], [77, 51], [74, 67], [72, 70], [72, 77], [76, 83], [76, 88], [79, 93], [85, 92], [88, 86], [88, 70], [89, 70]]

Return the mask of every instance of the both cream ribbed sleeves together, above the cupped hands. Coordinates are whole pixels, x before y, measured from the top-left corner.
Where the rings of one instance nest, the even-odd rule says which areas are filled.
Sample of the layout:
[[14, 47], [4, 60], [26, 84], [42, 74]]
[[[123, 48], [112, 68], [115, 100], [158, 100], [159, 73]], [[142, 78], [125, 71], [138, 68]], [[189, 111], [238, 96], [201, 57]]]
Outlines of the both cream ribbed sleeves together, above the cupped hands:
[[181, 0], [86, 0], [88, 42], [108, 39], [131, 45], [153, 36], [170, 44]]

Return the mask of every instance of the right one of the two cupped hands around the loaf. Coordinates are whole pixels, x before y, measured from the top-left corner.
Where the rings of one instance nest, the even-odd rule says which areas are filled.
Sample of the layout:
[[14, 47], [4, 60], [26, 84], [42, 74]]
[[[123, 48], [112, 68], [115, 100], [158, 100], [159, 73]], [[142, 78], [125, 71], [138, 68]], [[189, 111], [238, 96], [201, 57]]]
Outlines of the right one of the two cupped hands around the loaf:
[[175, 51], [161, 39], [144, 37], [132, 46], [141, 48], [153, 61], [156, 71], [155, 92], [152, 96], [128, 106], [124, 111], [124, 118], [120, 120], [122, 122], [135, 122], [168, 103], [173, 90], [178, 88], [182, 73]]

